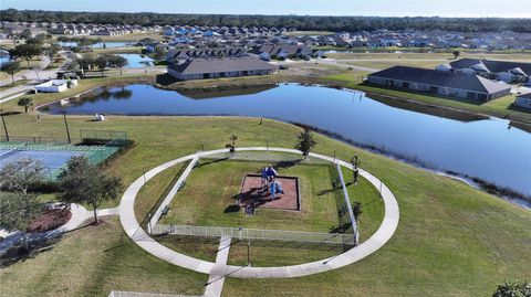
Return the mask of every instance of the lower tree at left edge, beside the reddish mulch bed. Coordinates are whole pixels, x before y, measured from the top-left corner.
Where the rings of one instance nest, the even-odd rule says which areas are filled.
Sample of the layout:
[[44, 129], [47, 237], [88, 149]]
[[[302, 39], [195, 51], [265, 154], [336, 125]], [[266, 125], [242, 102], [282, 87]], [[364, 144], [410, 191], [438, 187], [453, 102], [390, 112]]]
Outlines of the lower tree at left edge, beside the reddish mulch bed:
[[0, 226], [9, 232], [19, 231], [29, 251], [28, 226], [42, 213], [42, 204], [37, 194], [23, 192], [0, 192]]

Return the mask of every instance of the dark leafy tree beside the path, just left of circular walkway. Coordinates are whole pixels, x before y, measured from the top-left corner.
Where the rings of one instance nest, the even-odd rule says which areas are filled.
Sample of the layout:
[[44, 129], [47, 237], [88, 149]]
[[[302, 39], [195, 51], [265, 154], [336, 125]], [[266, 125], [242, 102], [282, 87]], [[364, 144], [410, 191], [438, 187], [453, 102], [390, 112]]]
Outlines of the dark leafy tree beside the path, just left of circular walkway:
[[91, 203], [94, 221], [97, 223], [97, 209], [103, 201], [114, 200], [122, 190], [122, 181], [107, 177], [97, 166], [88, 163], [83, 157], [73, 157], [66, 163], [66, 170], [58, 179], [61, 199], [65, 202]]

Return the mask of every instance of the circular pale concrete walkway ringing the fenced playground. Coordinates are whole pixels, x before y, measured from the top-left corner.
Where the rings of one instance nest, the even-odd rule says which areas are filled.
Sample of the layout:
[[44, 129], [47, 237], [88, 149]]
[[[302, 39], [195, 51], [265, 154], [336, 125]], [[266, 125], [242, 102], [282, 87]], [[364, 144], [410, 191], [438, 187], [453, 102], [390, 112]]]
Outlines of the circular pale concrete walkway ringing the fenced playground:
[[[284, 149], [284, 148], [266, 148], [266, 147], [248, 147], [238, 148], [237, 151], [277, 151], [277, 152], [290, 152], [300, 155], [299, 150]], [[228, 149], [210, 150], [200, 152], [200, 156], [211, 156], [217, 153], [228, 152]], [[197, 153], [188, 155], [173, 161], [163, 163], [148, 172], [145, 176], [139, 177], [133, 184], [127, 188], [119, 204], [119, 220], [127, 235], [142, 248], [153, 254], [154, 256], [171, 263], [174, 265], [191, 269], [198, 273], [210, 274], [215, 268], [215, 263], [190, 257], [180, 253], [177, 253], [152, 237], [144, 232], [135, 218], [135, 198], [142, 187], [150, 180], [153, 177], [170, 168], [179, 162], [184, 162], [196, 157]], [[334, 158], [310, 153], [311, 157], [334, 162]], [[341, 166], [348, 169], [353, 169], [352, 165], [342, 160], [337, 160]], [[287, 278], [298, 277], [317, 274], [336, 269], [352, 263], [355, 263], [372, 253], [379, 250], [395, 233], [398, 226], [399, 210], [398, 202], [391, 190], [376, 177], [367, 171], [360, 170], [360, 174], [367, 179], [378, 191], [381, 191], [382, 199], [385, 205], [385, 215], [379, 229], [365, 242], [353, 247], [337, 256], [329, 257], [321, 261], [310, 262], [300, 265], [280, 266], [280, 267], [248, 267], [248, 266], [233, 266], [233, 265], [216, 265], [216, 271], [221, 271], [223, 275], [230, 277], [241, 278]]]

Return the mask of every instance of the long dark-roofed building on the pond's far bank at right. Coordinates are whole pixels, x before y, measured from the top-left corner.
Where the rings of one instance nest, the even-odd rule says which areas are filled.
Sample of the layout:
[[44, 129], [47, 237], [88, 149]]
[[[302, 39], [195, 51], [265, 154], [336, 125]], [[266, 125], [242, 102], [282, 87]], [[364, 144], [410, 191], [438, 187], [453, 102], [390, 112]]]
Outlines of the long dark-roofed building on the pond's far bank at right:
[[511, 86], [476, 74], [394, 66], [367, 76], [373, 84], [487, 102], [509, 95]]

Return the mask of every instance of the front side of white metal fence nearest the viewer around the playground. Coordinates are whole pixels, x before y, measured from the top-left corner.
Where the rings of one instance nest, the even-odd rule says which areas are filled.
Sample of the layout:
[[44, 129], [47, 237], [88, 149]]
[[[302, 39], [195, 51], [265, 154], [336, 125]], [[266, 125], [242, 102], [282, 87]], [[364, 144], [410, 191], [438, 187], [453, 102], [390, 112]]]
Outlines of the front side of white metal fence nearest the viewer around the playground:
[[284, 230], [258, 230], [223, 226], [162, 225], [152, 229], [152, 234], [171, 234], [199, 237], [230, 236], [241, 240], [288, 241], [323, 244], [354, 245], [353, 234], [317, 233]]

